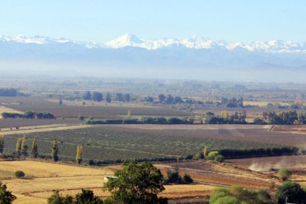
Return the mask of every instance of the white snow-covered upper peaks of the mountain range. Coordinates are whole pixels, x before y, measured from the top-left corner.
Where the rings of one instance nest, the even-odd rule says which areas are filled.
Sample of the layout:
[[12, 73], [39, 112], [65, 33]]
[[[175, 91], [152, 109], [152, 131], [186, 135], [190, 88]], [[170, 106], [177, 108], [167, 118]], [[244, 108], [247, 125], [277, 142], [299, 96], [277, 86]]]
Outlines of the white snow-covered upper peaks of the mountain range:
[[192, 36], [191, 38], [162, 38], [156, 40], [140, 39], [132, 34], [125, 34], [106, 43], [90, 42], [90, 41], [72, 41], [69, 39], [54, 39], [49, 37], [34, 36], [27, 37], [18, 35], [7, 37], [0, 35], [0, 42], [16, 42], [16, 43], [34, 43], [34, 44], [54, 44], [54, 43], [73, 43], [86, 48], [122, 48], [126, 46], [140, 47], [148, 50], [160, 49], [166, 47], [186, 47], [190, 49], [245, 49], [249, 52], [259, 53], [299, 53], [306, 54], [306, 42], [292, 42], [283, 40], [271, 40], [266, 42], [226, 42], [224, 40], [212, 40], [200, 36]]

